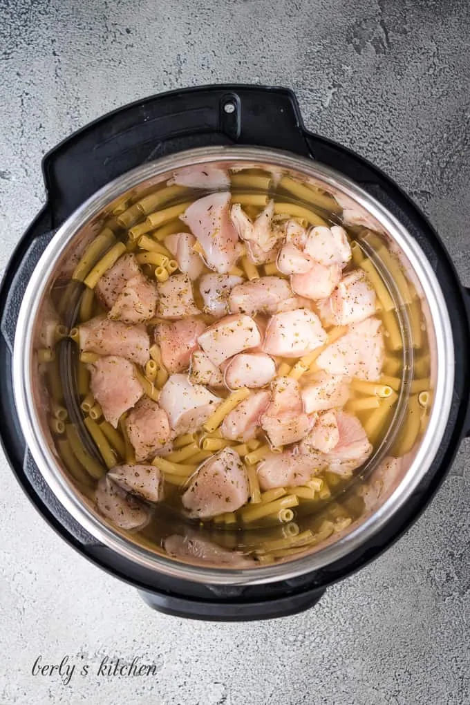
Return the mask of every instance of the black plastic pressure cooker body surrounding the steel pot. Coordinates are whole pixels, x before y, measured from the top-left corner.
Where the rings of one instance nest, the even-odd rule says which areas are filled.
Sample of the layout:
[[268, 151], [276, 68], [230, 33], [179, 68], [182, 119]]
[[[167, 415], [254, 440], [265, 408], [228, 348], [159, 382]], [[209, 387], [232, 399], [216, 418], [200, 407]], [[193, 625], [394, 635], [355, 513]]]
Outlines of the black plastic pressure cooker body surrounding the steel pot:
[[[443, 290], [452, 325], [455, 376], [443, 441], [419, 489], [399, 515], [345, 558], [307, 575], [270, 584], [215, 586], [167, 577], [99, 544], [58, 502], [25, 445], [13, 398], [16, 322], [32, 271], [56, 230], [87, 198], [147, 161], [209, 145], [256, 145], [308, 157], [342, 172], [376, 198], [416, 238]], [[20, 240], [0, 290], [1, 442], [27, 496], [49, 525], [83, 556], [140, 591], [159, 611], [205, 620], [281, 617], [313, 606], [326, 587], [361, 568], [412, 525], [470, 429], [466, 364], [470, 297], [438, 235], [407, 195], [350, 150], [305, 130], [295, 95], [283, 88], [220, 85], [159, 94], [123, 107], [61, 142], [43, 161], [47, 202]]]

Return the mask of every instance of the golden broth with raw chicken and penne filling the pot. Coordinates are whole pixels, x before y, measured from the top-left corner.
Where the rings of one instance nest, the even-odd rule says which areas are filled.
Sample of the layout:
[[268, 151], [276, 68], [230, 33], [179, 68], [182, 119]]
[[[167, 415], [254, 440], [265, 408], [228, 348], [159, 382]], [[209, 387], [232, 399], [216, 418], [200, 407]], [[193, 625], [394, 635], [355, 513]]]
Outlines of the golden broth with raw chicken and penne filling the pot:
[[366, 226], [260, 168], [183, 169], [115, 205], [37, 351], [56, 449], [100, 515], [230, 565], [357, 520], [372, 458], [409, 453], [432, 395], [420, 300]]

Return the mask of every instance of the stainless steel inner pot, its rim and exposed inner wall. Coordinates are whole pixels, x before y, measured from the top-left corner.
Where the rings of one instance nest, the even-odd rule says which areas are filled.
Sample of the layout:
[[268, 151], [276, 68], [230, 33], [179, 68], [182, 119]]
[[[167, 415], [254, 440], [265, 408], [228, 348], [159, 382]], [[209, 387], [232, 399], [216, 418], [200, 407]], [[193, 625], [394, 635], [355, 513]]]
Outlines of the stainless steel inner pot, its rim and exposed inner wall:
[[[407, 384], [414, 375], [413, 324], [409, 307], [400, 300], [400, 281], [390, 275], [390, 259], [385, 262], [376, 249], [377, 234], [386, 243], [393, 261], [400, 263], [400, 271], [409, 286], [416, 291], [416, 303], [426, 321], [428, 337], [431, 403], [421, 419], [421, 431], [407, 453], [388, 462], [390, 448], [407, 423], [408, 395], [401, 393], [387, 434], [350, 488], [352, 496], [362, 498], [361, 515], [348, 527], [319, 539], [313, 546], [302, 551], [297, 548], [276, 563], [249, 568], [230, 568], [222, 563], [204, 565], [196, 559], [171, 558], [140, 535], [120, 531], [104, 520], [94, 508], [89, 494], [81, 491], [70, 479], [56, 452], [39, 376], [41, 363], [37, 348], [44, 345], [44, 341], [38, 343], [38, 340], [42, 340], [44, 329], [47, 329], [49, 293], [80, 240], [88, 240], [92, 234], [97, 235], [105, 226], [109, 227], [109, 223], [113, 223], [113, 213], [124, 201], [132, 204], [181, 168], [202, 164], [231, 169], [262, 168], [273, 173], [275, 178], [282, 173], [333, 195], [341, 207], [335, 218], [354, 233], [364, 252], [383, 274], [399, 307], [404, 382]], [[63, 323], [73, 326], [76, 315], [77, 306], [70, 305], [64, 312]], [[64, 360], [61, 372], [66, 385], [69, 374], [67, 357]], [[322, 164], [271, 149], [248, 147], [193, 149], [144, 164], [109, 183], [82, 204], [59, 228], [30, 279], [18, 318], [13, 360], [14, 395], [27, 446], [44, 480], [63, 507], [97, 541], [121, 556], [168, 576], [206, 584], [261, 584], [285, 580], [333, 563], [369, 541], [385, 523], [393, 521], [394, 515], [400, 512], [431, 466], [450, 411], [453, 383], [454, 348], [445, 299], [426, 256], [402, 223], [351, 180]], [[70, 415], [73, 419], [73, 411]], [[181, 532], [185, 532], [185, 528], [180, 525]], [[225, 545], [236, 549], [237, 537], [229, 539], [228, 534]]]

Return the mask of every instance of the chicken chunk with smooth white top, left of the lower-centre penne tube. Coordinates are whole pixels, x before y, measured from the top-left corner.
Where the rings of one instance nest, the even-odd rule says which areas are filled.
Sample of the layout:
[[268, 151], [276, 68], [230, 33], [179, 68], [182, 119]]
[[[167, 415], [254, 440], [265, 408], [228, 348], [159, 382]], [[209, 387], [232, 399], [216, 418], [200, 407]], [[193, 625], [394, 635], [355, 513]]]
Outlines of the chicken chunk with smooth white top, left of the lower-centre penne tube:
[[159, 405], [168, 414], [175, 434], [199, 429], [220, 403], [221, 399], [204, 386], [191, 384], [186, 374], [172, 374], [159, 398]]

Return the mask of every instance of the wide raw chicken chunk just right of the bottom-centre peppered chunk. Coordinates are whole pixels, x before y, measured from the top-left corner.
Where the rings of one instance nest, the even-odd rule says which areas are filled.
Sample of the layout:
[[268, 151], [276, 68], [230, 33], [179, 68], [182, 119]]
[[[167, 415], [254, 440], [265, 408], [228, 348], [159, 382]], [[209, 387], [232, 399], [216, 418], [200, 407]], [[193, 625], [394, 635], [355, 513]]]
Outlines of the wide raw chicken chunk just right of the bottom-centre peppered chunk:
[[275, 487], [297, 487], [305, 484], [318, 470], [307, 455], [269, 453], [258, 466], [259, 486], [263, 491]]

